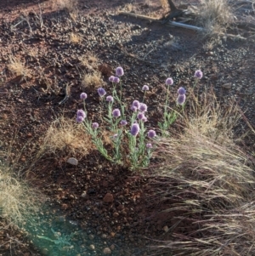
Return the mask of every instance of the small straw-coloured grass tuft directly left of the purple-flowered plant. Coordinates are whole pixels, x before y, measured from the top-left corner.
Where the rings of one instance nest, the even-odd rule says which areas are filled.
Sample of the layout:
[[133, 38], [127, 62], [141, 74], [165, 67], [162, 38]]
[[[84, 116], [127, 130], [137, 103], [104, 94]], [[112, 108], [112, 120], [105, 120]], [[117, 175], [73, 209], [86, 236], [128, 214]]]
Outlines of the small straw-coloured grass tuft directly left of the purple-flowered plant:
[[66, 152], [68, 155], [86, 156], [94, 148], [84, 127], [74, 120], [60, 117], [55, 120], [48, 128], [42, 148], [44, 151], [56, 154], [59, 151]]

